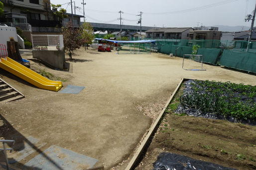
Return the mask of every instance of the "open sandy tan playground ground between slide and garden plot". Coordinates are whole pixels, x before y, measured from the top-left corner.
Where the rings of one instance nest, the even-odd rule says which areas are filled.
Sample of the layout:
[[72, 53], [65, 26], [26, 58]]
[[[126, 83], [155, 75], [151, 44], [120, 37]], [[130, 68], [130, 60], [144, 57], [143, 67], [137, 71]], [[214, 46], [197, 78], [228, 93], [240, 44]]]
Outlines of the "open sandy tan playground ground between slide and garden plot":
[[4, 139], [14, 138], [19, 145], [32, 136], [40, 140], [35, 149], [47, 143], [38, 152], [57, 145], [95, 158], [99, 160], [96, 166], [108, 170], [132, 157], [154, 114], [160, 113], [182, 77], [256, 85], [255, 75], [207, 64], [206, 71], [186, 71], [182, 58], [162, 54], [117, 55], [80, 49], [73, 58], [68, 61], [72, 72], [30, 63], [36, 71], [63, 79], [64, 88], [85, 86], [77, 95], [38, 89], [0, 70], [0, 77], [25, 95], [19, 101], [0, 103], [1, 119], [8, 124]]

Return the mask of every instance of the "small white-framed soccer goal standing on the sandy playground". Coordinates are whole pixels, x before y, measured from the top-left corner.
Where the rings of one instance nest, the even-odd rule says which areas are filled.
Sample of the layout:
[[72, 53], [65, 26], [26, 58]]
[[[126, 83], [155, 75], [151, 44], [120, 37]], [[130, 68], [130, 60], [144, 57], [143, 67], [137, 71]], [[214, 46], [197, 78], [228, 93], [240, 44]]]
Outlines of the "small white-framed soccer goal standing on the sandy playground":
[[182, 68], [192, 71], [206, 70], [203, 68], [203, 55], [183, 55]]

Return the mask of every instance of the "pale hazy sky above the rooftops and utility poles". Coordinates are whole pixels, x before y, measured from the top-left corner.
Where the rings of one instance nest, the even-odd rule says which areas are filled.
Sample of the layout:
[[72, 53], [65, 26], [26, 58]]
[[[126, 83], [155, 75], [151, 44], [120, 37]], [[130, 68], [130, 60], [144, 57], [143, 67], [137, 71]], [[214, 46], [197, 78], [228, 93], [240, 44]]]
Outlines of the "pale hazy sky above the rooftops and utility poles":
[[[83, 0], [73, 0], [76, 14], [83, 15]], [[53, 4], [71, 13], [70, 0], [51, 0]], [[87, 22], [137, 24], [139, 11], [142, 11], [142, 26], [155, 27], [195, 27], [228, 25], [251, 26], [245, 22], [247, 14], [253, 14], [256, 0], [84, 0]], [[66, 4], [64, 4], [66, 3]], [[73, 3], [74, 4], [74, 3]], [[73, 5], [74, 13], [74, 5]], [[83, 21], [83, 18], [81, 18]]]

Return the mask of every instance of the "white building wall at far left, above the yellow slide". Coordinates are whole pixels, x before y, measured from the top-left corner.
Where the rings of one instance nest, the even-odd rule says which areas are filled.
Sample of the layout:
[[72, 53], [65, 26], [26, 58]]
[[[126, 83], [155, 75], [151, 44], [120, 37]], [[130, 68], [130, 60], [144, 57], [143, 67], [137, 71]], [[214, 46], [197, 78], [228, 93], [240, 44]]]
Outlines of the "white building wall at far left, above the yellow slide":
[[0, 44], [4, 44], [6, 47], [7, 52], [7, 41], [10, 40], [10, 37], [13, 37], [15, 41], [18, 41], [17, 39], [17, 33], [15, 27], [6, 27], [6, 26], [0, 26]]

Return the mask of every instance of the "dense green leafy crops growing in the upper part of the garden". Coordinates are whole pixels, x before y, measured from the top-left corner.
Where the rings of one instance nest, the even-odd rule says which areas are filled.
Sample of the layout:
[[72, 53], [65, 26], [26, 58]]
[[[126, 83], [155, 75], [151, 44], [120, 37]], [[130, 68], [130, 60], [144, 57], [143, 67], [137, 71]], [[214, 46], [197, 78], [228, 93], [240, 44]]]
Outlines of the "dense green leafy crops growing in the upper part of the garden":
[[183, 108], [230, 115], [237, 120], [256, 120], [256, 86], [209, 80], [195, 80], [191, 85], [193, 91], [180, 96]]

